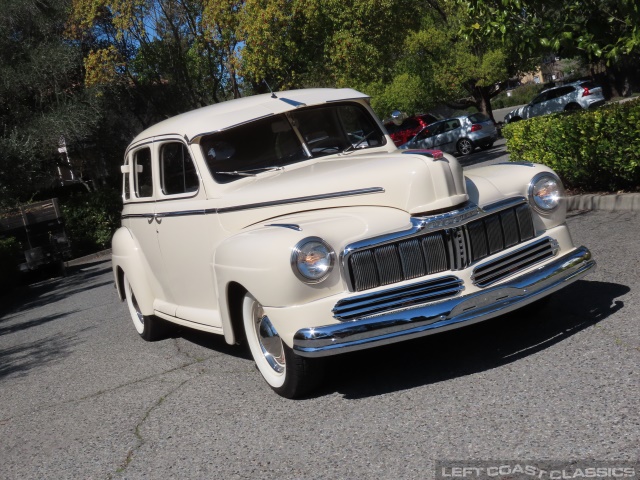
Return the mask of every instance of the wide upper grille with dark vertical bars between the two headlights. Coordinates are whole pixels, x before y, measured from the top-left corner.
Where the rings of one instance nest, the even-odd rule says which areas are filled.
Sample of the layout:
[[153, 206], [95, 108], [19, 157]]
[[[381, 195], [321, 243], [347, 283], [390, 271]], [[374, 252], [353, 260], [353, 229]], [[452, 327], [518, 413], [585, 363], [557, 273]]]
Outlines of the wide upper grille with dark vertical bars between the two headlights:
[[529, 205], [520, 204], [464, 225], [361, 248], [346, 260], [356, 292], [462, 270], [534, 237]]

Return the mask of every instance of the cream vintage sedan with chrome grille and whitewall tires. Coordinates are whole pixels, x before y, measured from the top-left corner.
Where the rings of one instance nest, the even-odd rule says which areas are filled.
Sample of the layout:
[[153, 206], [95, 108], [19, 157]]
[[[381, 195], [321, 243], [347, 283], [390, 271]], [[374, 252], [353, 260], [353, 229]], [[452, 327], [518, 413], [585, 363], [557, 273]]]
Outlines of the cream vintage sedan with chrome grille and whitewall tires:
[[322, 357], [476, 323], [595, 262], [541, 165], [463, 174], [400, 151], [351, 89], [258, 95], [165, 120], [126, 151], [119, 296], [145, 340], [178, 324], [248, 344], [304, 395]]

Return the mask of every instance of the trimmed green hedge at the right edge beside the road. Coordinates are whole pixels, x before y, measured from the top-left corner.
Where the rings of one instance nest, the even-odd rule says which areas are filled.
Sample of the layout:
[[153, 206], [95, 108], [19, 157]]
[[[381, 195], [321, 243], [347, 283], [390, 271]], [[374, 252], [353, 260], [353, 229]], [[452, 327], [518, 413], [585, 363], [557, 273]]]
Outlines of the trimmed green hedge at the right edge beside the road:
[[523, 120], [502, 134], [512, 161], [545, 164], [568, 188], [617, 192], [640, 186], [640, 100]]

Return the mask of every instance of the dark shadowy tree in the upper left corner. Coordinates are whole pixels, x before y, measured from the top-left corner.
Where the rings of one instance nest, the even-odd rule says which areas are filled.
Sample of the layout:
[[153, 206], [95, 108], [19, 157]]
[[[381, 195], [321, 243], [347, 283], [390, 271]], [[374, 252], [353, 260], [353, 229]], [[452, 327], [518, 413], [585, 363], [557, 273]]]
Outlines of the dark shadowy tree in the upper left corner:
[[0, 202], [53, 178], [58, 140], [86, 140], [100, 119], [82, 85], [82, 57], [62, 32], [68, 3], [5, 0], [0, 17]]

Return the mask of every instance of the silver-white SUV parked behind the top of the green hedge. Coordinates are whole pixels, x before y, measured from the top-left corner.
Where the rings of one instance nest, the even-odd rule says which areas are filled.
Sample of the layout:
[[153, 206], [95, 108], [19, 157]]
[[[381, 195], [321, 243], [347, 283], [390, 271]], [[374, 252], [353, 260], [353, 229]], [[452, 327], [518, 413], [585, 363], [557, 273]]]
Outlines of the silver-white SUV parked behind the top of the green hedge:
[[504, 117], [504, 122], [517, 122], [550, 113], [595, 108], [604, 102], [602, 87], [591, 81], [574, 82], [543, 90], [528, 105], [509, 112]]

